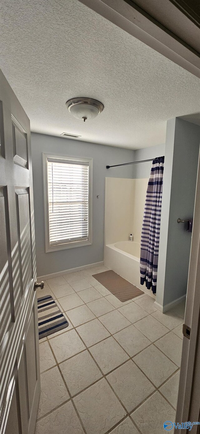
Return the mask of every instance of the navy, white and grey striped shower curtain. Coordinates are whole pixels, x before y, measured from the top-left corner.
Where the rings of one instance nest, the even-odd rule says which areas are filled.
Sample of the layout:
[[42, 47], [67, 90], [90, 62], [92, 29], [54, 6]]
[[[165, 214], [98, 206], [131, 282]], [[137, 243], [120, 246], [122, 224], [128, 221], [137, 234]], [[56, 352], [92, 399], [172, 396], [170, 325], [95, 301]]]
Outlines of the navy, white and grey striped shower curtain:
[[153, 294], [157, 283], [164, 159], [158, 157], [152, 162], [141, 235], [140, 283], [152, 288]]

